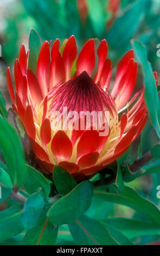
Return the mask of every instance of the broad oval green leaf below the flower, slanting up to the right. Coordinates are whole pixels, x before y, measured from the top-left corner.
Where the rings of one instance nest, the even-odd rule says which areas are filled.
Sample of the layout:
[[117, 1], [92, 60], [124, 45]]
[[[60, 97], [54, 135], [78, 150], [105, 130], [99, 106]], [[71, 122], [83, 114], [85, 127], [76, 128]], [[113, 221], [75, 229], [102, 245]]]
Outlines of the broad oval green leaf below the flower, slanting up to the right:
[[91, 205], [93, 184], [83, 181], [66, 196], [57, 200], [48, 211], [49, 221], [55, 225], [70, 224]]

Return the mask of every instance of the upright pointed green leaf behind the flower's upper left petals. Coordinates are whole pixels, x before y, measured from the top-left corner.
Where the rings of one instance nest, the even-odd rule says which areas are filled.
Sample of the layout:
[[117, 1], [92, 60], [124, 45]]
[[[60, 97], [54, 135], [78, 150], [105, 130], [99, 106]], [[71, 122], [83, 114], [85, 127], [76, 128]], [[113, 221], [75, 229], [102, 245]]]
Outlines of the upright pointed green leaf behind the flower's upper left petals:
[[31, 28], [29, 32], [29, 59], [28, 68], [36, 74], [37, 60], [41, 49], [41, 41], [37, 32]]

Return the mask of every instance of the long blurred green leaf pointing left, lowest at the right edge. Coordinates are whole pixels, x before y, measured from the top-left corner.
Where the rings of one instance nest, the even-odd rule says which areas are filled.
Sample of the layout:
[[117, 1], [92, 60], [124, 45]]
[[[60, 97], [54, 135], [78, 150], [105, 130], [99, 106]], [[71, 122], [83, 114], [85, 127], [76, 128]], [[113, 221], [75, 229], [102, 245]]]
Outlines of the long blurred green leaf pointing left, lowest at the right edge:
[[108, 220], [103, 220], [103, 223], [116, 228], [129, 239], [146, 235], [160, 235], [160, 225], [155, 223], [128, 218], [108, 218]]

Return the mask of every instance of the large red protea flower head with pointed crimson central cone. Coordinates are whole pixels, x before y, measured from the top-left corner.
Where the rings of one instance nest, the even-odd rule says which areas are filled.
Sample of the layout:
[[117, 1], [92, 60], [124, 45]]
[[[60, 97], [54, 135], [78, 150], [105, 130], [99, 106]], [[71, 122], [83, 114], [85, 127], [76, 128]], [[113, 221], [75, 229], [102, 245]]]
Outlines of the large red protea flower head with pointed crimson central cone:
[[[97, 49], [97, 68], [94, 39], [86, 42], [78, 57], [74, 36], [59, 48], [59, 39], [52, 47], [48, 41], [43, 43], [34, 74], [27, 66], [28, 53], [21, 46], [14, 69], [16, 94], [10, 69], [7, 70], [12, 106], [20, 115], [37, 161], [45, 172], [52, 173], [53, 167], [59, 164], [75, 178], [92, 175], [121, 156], [146, 123], [143, 89], [130, 99], [137, 63], [133, 50], [124, 55], [109, 92], [112, 66], [107, 59], [106, 40]], [[76, 119], [67, 115], [64, 121], [66, 109]], [[81, 112], [85, 112], [84, 129], [80, 126]], [[86, 113], [92, 112], [103, 113], [101, 126], [95, 125], [93, 116], [90, 125], [87, 124]], [[105, 113], [109, 113], [107, 121]], [[76, 123], [78, 129], [64, 127], [69, 121], [72, 126]], [[106, 133], [103, 133], [104, 124], [107, 124]]]

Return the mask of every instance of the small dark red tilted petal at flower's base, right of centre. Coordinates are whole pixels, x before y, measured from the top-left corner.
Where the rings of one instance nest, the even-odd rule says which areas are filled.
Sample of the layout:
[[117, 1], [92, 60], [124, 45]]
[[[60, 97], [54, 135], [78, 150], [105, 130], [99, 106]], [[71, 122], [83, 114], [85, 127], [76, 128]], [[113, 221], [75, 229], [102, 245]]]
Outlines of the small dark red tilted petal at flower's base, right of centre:
[[88, 155], [82, 156], [80, 158], [80, 160], [78, 161], [78, 165], [82, 168], [94, 166], [94, 164], [97, 163], [98, 157], [98, 152], [89, 153]]

